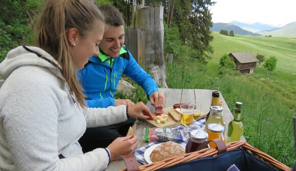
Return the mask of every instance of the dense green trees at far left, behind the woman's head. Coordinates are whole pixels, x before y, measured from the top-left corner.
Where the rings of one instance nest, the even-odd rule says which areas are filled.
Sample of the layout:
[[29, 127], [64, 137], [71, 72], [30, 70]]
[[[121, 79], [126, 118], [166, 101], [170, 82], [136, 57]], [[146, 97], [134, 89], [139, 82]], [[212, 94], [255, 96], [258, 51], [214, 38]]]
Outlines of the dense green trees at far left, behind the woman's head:
[[21, 44], [35, 44], [33, 16], [41, 1], [0, 1], [0, 62], [7, 52]]

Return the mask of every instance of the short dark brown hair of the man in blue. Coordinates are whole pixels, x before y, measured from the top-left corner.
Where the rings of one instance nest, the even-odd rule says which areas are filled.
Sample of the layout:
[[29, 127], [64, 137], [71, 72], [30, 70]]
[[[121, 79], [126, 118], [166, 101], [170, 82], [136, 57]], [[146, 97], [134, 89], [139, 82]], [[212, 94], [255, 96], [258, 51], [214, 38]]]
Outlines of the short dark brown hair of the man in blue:
[[116, 7], [112, 5], [103, 5], [99, 7], [99, 9], [105, 16], [105, 23], [108, 26], [125, 26], [125, 20]]

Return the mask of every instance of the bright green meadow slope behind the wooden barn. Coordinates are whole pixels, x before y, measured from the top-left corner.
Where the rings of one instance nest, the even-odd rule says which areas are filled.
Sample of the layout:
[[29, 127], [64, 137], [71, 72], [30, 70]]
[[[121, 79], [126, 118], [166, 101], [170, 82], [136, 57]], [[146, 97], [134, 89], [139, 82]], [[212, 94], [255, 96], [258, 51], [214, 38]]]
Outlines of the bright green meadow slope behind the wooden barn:
[[253, 37], [235, 35], [235, 37], [212, 32], [214, 40], [211, 45], [214, 49], [213, 59], [209, 64], [217, 65], [224, 54], [233, 51], [250, 51], [254, 56], [257, 53], [266, 58], [278, 58], [277, 70], [284, 70], [296, 74], [296, 39], [286, 37]]

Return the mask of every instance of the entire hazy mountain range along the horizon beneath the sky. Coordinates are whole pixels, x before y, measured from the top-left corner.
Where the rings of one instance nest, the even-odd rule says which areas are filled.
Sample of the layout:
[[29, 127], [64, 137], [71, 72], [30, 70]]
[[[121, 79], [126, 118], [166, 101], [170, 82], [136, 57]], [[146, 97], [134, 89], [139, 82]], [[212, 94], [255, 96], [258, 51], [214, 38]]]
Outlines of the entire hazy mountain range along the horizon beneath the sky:
[[230, 32], [233, 30], [234, 34], [250, 36], [272, 35], [274, 37], [296, 37], [296, 21], [288, 23], [281, 28], [259, 22], [253, 23], [252, 25], [238, 21], [232, 21], [230, 23], [217, 22], [213, 23], [211, 30], [215, 32], [220, 32], [220, 30]]

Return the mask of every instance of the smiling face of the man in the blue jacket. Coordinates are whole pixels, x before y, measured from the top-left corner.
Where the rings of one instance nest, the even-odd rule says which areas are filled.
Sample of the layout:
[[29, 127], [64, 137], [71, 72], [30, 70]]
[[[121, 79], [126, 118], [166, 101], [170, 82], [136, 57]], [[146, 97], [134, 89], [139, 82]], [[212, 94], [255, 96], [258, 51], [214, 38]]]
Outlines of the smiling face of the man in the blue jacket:
[[120, 48], [125, 43], [124, 26], [110, 26], [105, 31], [103, 40], [98, 45], [100, 50], [111, 58], [119, 56]]

